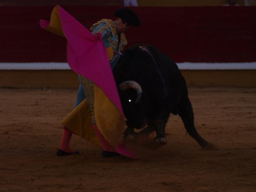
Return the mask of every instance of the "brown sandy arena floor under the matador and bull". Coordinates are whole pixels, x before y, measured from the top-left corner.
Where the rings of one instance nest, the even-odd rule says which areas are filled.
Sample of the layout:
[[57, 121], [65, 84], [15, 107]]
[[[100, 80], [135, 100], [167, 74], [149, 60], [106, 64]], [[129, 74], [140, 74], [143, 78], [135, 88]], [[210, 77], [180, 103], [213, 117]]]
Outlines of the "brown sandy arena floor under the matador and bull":
[[203, 151], [179, 116], [168, 144], [143, 158], [102, 158], [74, 135], [82, 154], [57, 156], [60, 121], [76, 90], [0, 89], [0, 191], [256, 191], [256, 88], [189, 88], [197, 131], [219, 150]]

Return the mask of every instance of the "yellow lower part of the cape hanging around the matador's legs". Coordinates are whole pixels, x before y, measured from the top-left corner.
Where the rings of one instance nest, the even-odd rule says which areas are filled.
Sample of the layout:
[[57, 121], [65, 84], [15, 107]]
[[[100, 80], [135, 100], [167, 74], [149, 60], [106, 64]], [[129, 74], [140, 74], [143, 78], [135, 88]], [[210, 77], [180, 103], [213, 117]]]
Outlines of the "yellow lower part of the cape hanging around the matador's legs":
[[[125, 118], [106, 97], [105, 93], [94, 84], [94, 114], [100, 133], [112, 147], [122, 140], [126, 128]], [[87, 100], [81, 102], [65, 119], [61, 121], [65, 127], [76, 135], [101, 147], [91, 121], [91, 111]]]

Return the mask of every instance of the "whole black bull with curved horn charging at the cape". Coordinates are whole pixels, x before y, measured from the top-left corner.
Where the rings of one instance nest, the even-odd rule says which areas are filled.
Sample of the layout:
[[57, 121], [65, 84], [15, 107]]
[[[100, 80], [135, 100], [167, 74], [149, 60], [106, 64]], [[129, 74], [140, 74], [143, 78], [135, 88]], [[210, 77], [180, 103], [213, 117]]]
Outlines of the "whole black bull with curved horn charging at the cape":
[[134, 45], [125, 51], [113, 74], [127, 118], [126, 138], [135, 139], [133, 129], [148, 124], [156, 131], [155, 142], [166, 144], [165, 125], [172, 113], [179, 114], [201, 148], [214, 149], [196, 131], [186, 81], [167, 55], [149, 45]]

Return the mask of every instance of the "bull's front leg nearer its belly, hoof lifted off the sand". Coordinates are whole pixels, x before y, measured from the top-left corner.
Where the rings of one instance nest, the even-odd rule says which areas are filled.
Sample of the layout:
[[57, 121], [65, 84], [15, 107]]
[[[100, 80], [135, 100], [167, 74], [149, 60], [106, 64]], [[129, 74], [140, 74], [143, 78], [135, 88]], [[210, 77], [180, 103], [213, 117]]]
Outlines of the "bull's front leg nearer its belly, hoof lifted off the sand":
[[165, 139], [166, 122], [167, 122], [167, 119], [166, 120], [154, 119], [154, 120], [150, 121], [150, 123], [148, 124], [148, 126], [150, 126], [150, 128], [153, 128], [154, 130], [156, 130], [156, 140], [155, 140], [156, 144], [160, 144], [160, 145], [167, 144], [167, 140]]

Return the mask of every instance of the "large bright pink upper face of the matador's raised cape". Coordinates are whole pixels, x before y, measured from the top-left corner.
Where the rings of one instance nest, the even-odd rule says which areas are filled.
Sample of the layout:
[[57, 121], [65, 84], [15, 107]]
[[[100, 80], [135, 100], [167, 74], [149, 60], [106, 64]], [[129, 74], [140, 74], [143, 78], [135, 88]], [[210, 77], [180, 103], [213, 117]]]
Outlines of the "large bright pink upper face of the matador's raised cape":
[[[59, 8], [62, 31], [68, 41], [67, 56], [69, 67], [100, 87], [124, 116], [101, 34], [99, 33], [100, 39], [98, 40], [73, 16], [59, 5], [57, 6]], [[47, 28], [49, 24], [48, 21], [40, 20], [42, 28]]]

